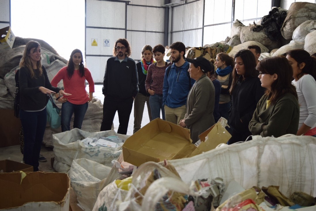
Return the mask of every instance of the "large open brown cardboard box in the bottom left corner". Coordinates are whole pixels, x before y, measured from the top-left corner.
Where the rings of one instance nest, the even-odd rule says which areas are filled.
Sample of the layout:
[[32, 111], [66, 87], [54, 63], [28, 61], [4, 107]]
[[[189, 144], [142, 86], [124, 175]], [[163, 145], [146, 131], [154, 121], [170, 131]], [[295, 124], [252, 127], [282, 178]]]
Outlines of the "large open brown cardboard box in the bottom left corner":
[[65, 173], [0, 173], [0, 210], [68, 211], [70, 179]]

